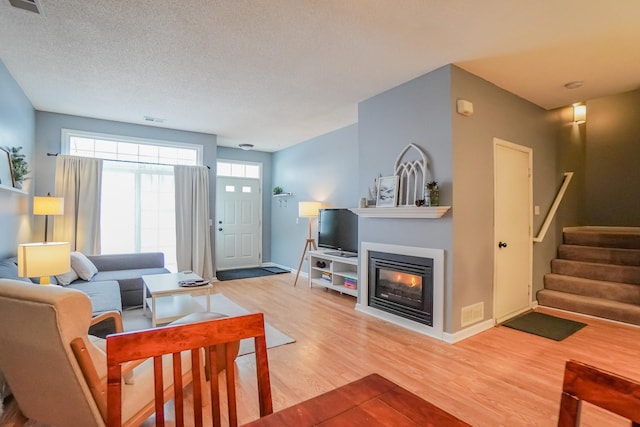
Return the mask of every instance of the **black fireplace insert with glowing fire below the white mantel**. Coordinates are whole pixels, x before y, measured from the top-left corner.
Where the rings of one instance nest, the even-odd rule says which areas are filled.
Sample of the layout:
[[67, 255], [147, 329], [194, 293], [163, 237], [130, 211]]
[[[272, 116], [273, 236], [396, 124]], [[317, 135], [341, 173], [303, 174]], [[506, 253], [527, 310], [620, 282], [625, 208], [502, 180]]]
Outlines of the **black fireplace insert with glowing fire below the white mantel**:
[[369, 307], [433, 326], [433, 259], [369, 251]]

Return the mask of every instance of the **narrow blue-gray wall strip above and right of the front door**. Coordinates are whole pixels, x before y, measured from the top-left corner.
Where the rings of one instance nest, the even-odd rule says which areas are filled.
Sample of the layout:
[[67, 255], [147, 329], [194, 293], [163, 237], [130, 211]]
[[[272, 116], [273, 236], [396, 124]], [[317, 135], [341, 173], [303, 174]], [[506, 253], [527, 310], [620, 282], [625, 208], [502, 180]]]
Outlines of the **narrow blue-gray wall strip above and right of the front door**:
[[[237, 160], [262, 164], [262, 262], [271, 262], [271, 153], [218, 147], [219, 160]], [[212, 165], [213, 166], [213, 165]]]

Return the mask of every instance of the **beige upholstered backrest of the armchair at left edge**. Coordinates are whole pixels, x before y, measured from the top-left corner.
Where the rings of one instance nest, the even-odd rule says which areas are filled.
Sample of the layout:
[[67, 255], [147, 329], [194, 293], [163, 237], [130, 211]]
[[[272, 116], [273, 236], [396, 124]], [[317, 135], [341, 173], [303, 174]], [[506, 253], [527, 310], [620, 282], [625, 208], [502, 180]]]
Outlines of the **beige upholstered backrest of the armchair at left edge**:
[[106, 357], [88, 339], [90, 322], [91, 301], [80, 291], [0, 279], [0, 370], [27, 418], [104, 425], [70, 346], [86, 339], [106, 375]]

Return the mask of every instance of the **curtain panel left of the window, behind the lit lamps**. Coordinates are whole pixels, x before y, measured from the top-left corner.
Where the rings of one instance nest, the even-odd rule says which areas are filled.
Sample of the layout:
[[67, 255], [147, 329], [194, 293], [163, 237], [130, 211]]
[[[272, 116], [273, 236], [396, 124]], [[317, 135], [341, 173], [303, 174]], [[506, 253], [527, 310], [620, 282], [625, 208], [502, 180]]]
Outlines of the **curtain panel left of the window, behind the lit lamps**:
[[100, 188], [102, 160], [58, 156], [56, 196], [64, 197], [64, 215], [53, 217], [53, 238], [71, 243], [71, 250], [100, 253]]

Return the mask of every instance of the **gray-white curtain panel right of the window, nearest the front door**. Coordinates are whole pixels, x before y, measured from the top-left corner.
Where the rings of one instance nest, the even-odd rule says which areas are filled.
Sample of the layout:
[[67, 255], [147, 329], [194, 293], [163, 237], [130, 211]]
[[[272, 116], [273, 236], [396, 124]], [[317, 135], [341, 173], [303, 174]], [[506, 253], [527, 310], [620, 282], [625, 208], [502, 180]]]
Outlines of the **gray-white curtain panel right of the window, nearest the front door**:
[[191, 270], [211, 280], [209, 170], [206, 166], [174, 166], [174, 175], [178, 271]]

